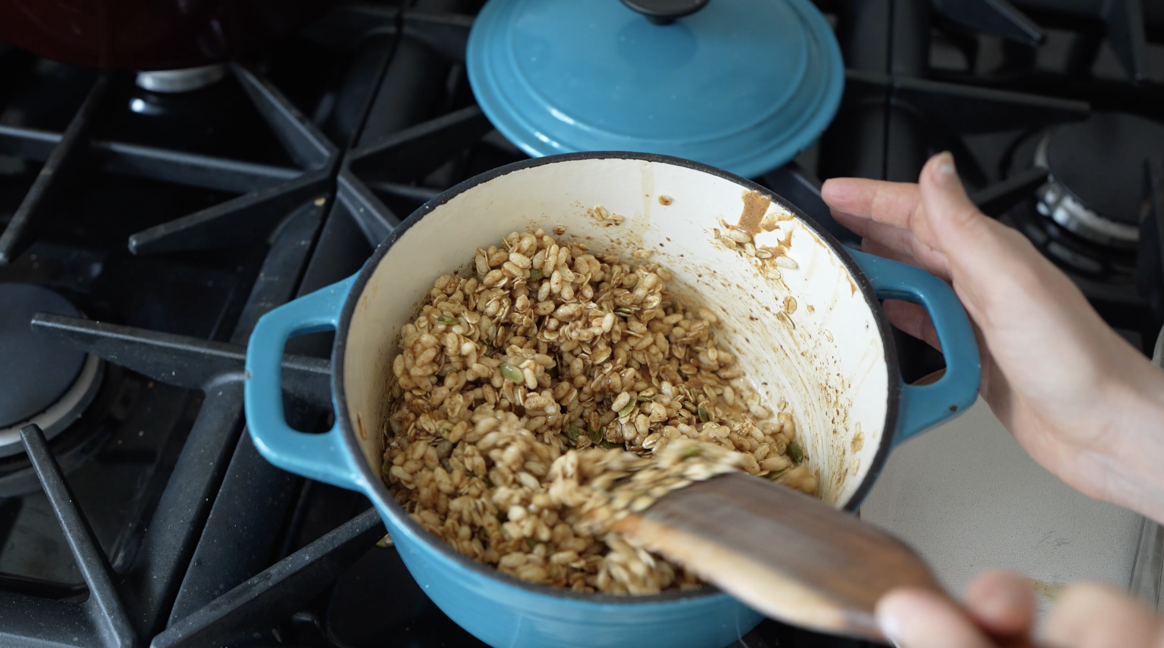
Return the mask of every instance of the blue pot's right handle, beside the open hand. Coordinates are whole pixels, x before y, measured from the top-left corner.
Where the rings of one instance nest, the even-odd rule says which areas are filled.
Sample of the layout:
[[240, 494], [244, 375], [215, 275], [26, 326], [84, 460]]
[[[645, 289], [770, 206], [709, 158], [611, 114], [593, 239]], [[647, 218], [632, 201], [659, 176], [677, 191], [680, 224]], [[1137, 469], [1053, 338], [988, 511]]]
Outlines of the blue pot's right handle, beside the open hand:
[[929, 385], [901, 385], [894, 446], [957, 416], [978, 399], [982, 364], [970, 318], [945, 282], [904, 263], [847, 250], [881, 299], [902, 299], [925, 307], [945, 356], [945, 375]]

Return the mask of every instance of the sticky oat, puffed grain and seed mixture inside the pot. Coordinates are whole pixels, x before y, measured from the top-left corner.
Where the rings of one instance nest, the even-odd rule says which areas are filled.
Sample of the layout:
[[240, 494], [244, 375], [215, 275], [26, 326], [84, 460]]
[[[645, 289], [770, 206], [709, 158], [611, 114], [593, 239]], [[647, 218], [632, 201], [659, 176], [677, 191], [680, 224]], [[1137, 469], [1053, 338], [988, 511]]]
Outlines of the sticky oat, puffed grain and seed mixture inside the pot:
[[786, 404], [772, 413], [716, 314], [650, 256], [514, 232], [436, 279], [400, 330], [384, 429], [418, 524], [528, 582], [647, 594], [700, 582], [609, 532], [620, 515], [729, 470], [816, 494]]

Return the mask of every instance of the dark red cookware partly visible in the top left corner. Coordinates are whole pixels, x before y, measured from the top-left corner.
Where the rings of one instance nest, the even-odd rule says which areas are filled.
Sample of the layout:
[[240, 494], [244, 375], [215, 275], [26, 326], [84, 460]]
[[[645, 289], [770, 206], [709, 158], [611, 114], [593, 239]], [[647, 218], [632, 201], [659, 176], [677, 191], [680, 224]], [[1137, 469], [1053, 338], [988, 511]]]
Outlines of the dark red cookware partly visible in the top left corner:
[[329, 0], [0, 0], [0, 40], [80, 65], [177, 70], [251, 51]]

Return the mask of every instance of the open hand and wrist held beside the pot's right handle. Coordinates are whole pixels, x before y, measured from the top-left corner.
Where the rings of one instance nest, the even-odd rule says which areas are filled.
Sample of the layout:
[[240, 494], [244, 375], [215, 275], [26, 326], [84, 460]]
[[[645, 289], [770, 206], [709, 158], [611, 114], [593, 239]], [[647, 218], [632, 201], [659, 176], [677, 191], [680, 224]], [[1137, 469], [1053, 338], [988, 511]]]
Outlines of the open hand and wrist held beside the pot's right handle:
[[[1077, 490], [1164, 521], [1164, 372], [1018, 232], [966, 197], [950, 154], [918, 184], [835, 178], [822, 190], [865, 251], [951, 283], [980, 334], [981, 394], [1041, 465]], [[889, 320], [938, 347], [924, 309]]]

